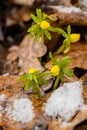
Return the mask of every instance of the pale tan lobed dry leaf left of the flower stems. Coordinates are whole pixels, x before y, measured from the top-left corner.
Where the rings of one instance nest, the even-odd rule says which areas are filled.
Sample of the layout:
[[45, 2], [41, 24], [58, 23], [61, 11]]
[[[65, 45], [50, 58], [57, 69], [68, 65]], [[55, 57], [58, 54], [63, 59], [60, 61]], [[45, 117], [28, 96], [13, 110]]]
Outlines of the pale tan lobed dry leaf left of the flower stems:
[[27, 73], [28, 69], [34, 67], [36, 69], [43, 69], [38, 57], [42, 57], [47, 51], [41, 41], [35, 43], [33, 38], [26, 35], [20, 45], [19, 50], [19, 67], [21, 67], [20, 74]]

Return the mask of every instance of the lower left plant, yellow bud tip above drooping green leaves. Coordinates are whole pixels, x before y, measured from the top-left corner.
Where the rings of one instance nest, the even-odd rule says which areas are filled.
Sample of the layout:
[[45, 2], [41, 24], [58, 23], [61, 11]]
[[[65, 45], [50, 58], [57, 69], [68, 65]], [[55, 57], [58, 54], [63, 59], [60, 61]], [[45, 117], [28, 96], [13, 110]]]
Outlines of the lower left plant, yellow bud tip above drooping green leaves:
[[24, 90], [28, 91], [32, 88], [32, 92], [37, 92], [38, 96], [41, 97], [40, 86], [47, 84], [44, 77], [49, 76], [49, 72], [38, 71], [35, 68], [29, 69], [28, 74], [20, 76], [19, 81], [24, 81]]

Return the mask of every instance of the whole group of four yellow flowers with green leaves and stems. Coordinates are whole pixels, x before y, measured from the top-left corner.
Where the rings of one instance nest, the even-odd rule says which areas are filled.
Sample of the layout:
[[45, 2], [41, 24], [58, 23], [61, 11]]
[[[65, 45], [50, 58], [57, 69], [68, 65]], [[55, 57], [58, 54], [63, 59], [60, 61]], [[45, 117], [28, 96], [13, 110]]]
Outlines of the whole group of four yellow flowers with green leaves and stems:
[[[64, 37], [63, 44], [58, 48], [55, 54], [67, 53], [70, 50], [71, 43], [78, 42], [80, 40], [79, 33], [71, 33], [71, 26], [69, 25], [66, 30], [58, 27], [53, 27], [51, 22], [56, 21], [57, 18], [49, 17], [47, 14], [42, 13], [41, 9], [36, 9], [36, 15], [31, 14], [33, 19], [33, 25], [28, 29], [28, 32], [35, 40], [42, 39], [44, 43], [44, 38], [51, 40], [51, 32], [56, 32]], [[24, 81], [24, 88], [28, 91], [32, 88], [32, 92], [37, 92], [41, 96], [41, 86], [47, 85], [46, 76], [53, 77], [55, 79], [53, 89], [58, 87], [59, 82], [63, 82], [64, 75], [68, 77], [74, 76], [73, 70], [68, 69], [70, 64], [70, 57], [65, 56], [63, 59], [59, 60], [53, 59], [52, 53], [50, 53], [50, 58], [52, 59], [52, 68], [46, 71], [39, 71], [35, 68], [30, 68], [28, 74], [20, 76], [19, 80]]]

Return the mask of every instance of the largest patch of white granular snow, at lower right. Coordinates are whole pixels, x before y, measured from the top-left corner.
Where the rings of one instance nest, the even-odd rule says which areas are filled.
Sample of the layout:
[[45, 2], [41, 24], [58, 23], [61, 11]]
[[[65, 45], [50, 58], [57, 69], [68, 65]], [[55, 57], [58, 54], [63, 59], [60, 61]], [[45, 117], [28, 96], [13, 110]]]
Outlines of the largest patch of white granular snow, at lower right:
[[65, 83], [55, 90], [48, 99], [45, 112], [48, 116], [70, 121], [77, 111], [84, 106], [82, 87], [79, 81]]

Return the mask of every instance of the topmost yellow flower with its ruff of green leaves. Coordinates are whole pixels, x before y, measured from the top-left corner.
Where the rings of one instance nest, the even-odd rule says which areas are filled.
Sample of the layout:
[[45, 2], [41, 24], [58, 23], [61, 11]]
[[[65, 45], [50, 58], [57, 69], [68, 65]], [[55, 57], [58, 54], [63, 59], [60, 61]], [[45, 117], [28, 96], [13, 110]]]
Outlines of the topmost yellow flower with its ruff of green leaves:
[[56, 21], [57, 18], [49, 17], [47, 14], [42, 13], [41, 9], [36, 9], [36, 16], [31, 14], [31, 18], [34, 21], [34, 24], [28, 29], [31, 36], [34, 36], [35, 40], [41, 38], [42, 43], [44, 43], [44, 37], [51, 40], [50, 32], [56, 32], [56, 29], [50, 23]]

